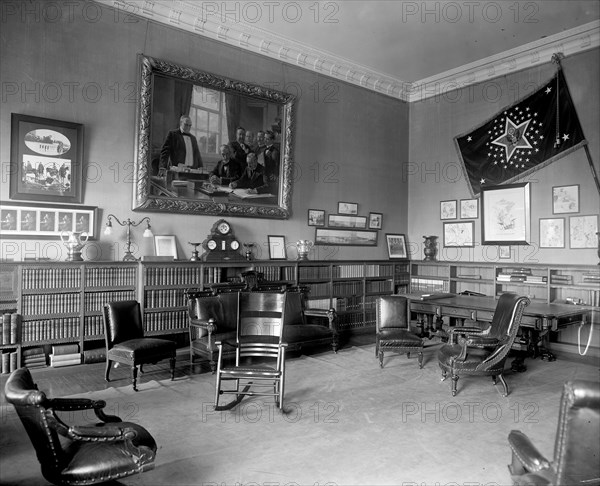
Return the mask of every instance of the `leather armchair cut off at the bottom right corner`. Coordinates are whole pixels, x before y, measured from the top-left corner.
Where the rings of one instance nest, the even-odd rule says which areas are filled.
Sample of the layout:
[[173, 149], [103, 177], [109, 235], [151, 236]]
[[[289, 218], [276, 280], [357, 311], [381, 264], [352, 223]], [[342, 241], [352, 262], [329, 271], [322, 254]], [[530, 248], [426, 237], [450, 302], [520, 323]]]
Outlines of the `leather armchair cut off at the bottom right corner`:
[[554, 443], [554, 460], [546, 459], [520, 430], [512, 430], [508, 466], [516, 485], [600, 484], [600, 384], [565, 383]]

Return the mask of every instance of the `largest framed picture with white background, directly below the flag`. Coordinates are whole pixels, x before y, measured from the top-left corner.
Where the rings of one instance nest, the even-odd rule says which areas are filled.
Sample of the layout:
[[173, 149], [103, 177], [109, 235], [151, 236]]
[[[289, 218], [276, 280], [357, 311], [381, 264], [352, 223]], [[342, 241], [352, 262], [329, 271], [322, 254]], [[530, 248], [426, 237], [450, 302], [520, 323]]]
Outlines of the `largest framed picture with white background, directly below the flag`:
[[481, 244], [528, 245], [531, 234], [529, 183], [481, 189]]

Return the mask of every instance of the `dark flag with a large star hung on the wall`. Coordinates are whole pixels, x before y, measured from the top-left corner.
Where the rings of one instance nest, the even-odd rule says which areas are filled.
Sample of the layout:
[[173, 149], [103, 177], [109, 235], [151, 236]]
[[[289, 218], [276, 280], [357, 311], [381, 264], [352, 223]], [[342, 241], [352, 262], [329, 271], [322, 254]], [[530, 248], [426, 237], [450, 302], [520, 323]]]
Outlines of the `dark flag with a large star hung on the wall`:
[[587, 143], [562, 69], [535, 93], [454, 141], [474, 196], [523, 179]]

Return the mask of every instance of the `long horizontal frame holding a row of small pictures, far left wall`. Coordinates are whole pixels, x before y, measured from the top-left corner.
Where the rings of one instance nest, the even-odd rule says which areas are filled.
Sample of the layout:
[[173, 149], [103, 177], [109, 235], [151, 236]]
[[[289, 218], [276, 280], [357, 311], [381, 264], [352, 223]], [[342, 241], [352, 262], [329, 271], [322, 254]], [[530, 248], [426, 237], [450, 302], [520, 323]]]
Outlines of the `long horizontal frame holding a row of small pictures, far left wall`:
[[97, 236], [98, 208], [0, 201], [0, 238], [59, 238], [61, 233]]

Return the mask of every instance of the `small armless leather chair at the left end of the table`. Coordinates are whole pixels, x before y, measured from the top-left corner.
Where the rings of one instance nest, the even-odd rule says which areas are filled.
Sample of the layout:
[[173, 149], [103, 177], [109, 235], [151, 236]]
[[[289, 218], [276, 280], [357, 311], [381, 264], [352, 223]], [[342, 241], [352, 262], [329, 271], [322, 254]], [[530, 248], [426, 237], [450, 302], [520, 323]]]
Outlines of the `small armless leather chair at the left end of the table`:
[[386, 295], [377, 299], [375, 332], [375, 356], [383, 368], [385, 351], [418, 356], [419, 368], [423, 368], [423, 340], [410, 330], [410, 306], [408, 299], [399, 295]]

